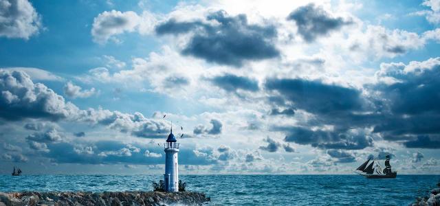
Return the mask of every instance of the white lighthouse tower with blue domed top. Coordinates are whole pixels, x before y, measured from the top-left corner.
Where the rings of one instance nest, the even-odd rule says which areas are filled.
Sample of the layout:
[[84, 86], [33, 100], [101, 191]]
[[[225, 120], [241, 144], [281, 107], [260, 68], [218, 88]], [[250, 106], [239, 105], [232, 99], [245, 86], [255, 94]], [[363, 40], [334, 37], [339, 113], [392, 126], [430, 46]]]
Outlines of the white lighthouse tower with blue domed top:
[[179, 144], [173, 135], [173, 126], [171, 126], [170, 135], [166, 139], [165, 145], [165, 174], [164, 183], [166, 192], [179, 192], [179, 163], [177, 153]]

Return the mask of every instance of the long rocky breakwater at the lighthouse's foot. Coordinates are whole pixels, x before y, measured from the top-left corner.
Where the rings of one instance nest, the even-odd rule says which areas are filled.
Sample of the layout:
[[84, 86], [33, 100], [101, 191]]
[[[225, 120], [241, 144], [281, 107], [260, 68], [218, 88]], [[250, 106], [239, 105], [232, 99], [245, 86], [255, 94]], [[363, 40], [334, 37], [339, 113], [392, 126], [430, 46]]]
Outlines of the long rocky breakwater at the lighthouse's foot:
[[0, 192], [4, 205], [202, 205], [198, 192]]

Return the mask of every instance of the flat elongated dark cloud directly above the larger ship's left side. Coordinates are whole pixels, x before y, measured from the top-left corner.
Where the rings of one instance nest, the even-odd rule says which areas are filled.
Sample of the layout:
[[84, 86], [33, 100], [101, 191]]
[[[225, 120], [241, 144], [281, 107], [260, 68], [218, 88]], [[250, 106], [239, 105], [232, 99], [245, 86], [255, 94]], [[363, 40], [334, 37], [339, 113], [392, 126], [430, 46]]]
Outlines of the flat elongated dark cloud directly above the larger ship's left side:
[[287, 135], [285, 141], [322, 149], [362, 150], [373, 146], [373, 139], [346, 131], [309, 130], [297, 126], [272, 128]]

